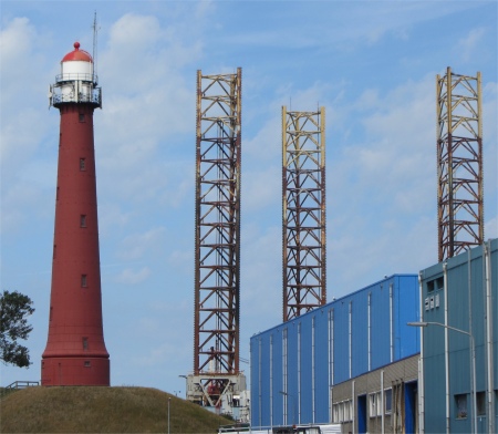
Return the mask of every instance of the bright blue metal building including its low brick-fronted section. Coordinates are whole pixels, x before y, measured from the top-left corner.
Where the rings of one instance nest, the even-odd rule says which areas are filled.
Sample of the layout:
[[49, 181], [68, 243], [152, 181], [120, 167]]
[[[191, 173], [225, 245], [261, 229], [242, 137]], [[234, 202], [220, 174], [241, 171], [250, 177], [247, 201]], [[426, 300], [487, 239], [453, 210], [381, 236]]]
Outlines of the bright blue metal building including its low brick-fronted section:
[[413, 432], [421, 334], [407, 322], [418, 307], [418, 276], [394, 275], [253, 335], [252, 428], [336, 422], [373, 432], [388, 421]]

